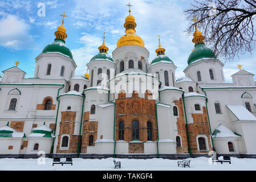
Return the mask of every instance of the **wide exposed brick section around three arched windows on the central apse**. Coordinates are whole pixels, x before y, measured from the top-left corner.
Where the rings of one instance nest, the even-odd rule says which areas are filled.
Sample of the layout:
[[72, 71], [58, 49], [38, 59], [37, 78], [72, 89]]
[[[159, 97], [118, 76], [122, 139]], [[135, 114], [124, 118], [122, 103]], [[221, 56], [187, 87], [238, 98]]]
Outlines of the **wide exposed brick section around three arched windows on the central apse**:
[[116, 99], [116, 140], [119, 138], [119, 122], [124, 121], [124, 140], [132, 141], [132, 121], [139, 122], [139, 139], [148, 141], [147, 122], [152, 124], [152, 140], [157, 140], [156, 101], [136, 97]]

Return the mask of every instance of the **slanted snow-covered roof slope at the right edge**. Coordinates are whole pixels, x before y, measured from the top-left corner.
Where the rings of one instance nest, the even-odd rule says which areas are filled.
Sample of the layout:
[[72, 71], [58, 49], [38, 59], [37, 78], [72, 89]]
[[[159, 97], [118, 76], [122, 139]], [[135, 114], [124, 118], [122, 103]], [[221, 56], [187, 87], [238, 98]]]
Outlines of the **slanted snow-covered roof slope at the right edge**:
[[256, 121], [253, 114], [250, 113], [243, 105], [226, 105], [227, 108], [237, 117], [238, 120]]

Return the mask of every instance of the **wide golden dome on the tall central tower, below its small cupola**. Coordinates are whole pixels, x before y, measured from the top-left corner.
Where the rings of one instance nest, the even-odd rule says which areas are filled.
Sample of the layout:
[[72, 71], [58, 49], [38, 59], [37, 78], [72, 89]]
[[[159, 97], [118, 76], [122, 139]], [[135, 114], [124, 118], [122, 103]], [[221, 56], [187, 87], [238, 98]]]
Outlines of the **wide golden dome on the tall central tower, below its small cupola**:
[[127, 34], [120, 37], [120, 39], [116, 43], [116, 47], [121, 47], [125, 45], [136, 45], [144, 47], [144, 41], [138, 35]]

